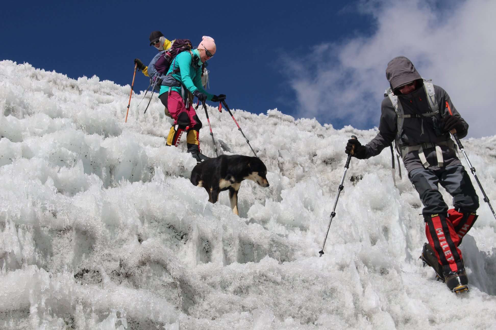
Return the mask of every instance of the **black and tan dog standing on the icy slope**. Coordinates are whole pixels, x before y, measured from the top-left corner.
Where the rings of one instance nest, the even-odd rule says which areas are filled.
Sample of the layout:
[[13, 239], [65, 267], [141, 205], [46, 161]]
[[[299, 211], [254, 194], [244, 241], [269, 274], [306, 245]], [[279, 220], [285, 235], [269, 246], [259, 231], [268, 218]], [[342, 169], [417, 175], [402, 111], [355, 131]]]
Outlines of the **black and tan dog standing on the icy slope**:
[[229, 201], [234, 214], [238, 215], [238, 190], [245, 179], [261, 187], [269, 187], [267, 168], [257, 157], [220, 155], [197, 164], [191, 171], [191, 183], [207, 190], [208, 201], [217, 202], [219, 192], [229, 190]]

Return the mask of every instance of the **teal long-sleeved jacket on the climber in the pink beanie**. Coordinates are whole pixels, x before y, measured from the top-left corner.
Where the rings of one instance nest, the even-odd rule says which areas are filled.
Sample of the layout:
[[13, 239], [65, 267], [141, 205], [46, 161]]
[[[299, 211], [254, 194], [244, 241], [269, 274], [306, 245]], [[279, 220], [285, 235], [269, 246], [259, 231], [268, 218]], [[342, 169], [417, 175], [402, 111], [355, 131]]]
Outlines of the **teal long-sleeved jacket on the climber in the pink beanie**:
[[[191, 56], [191, 54], [193, 54]], [[211, 100], [214, 95], [207, 93], [201, 85], [201, 65], [199, 62], [198, 50], [194, 49], [191, 51], [183, 51], [179, 53], [173, 60], [167, 75], [174, 77], [178, 82], [181, 82], [186, 89], [194, 93], [199, 91], [207, 95], [207, 99]], [[174, 73], [174, 70], [180, 69], [178, 73]], [[172, 91], [176, 91], [181, 95], [181, 87], [172, 87]], [[160, 94], [169, 92], [169, 86], [161, 86]]]

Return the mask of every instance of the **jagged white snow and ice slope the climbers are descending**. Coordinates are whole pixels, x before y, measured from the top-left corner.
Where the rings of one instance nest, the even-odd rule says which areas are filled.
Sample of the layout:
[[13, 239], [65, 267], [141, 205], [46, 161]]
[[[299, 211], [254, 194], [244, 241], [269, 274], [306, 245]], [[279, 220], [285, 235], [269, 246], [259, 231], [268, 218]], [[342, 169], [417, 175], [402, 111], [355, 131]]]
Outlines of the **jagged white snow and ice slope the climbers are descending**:
[[[421, 202], [406, 178], [393, 187], [389, 150], [352, 159], [319, 258], [345, 142], [375, 130], [234, 111], [270, 183], [243, 182], [238, 217], [227, 192], [211, 204], [189, 183], [158, 98], [143, 115], [133, 95], [124, 123], [129, 91], [0, 62], [0, 329], [494, 329], [487, 204], [461, 245], [471, 291], [455, 296], [418, 260]], [[219, 151], [250, 155], [208, 110]], [[464, 141], [493, 204], [495, 144]]]

